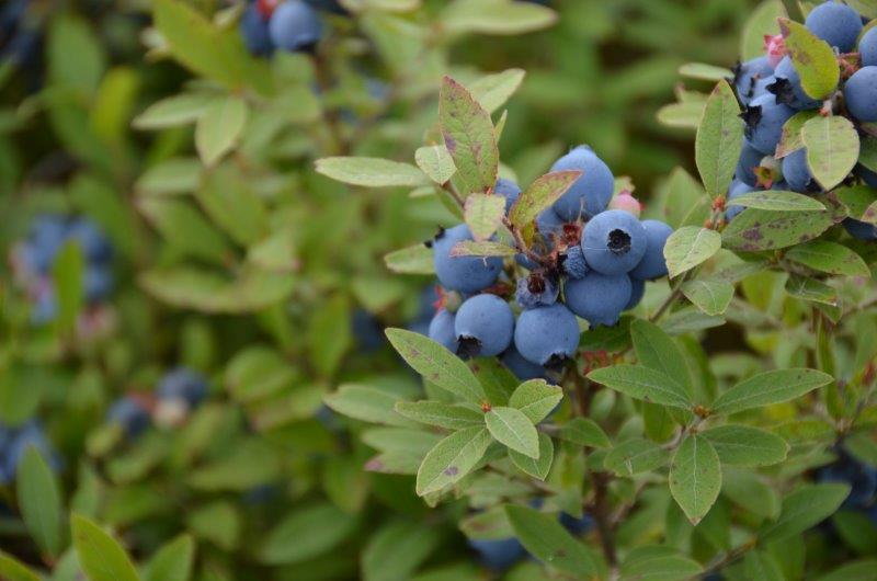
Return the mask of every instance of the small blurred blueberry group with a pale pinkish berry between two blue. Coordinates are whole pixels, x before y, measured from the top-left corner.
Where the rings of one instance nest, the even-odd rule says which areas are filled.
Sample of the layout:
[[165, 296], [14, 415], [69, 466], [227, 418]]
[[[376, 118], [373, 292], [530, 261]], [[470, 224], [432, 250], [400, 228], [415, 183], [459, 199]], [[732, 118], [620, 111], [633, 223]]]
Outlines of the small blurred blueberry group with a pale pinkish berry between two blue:
[[106, 412], [106, 421], [122, 428], [134, 438], [151, 425], [179, 425], [207, 397], [207, 379], [189, 367], [176, 367], [164, 374], [155, 397], [127, 395], [117, 399]]

